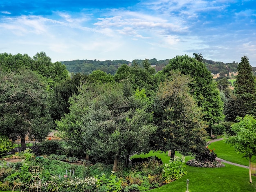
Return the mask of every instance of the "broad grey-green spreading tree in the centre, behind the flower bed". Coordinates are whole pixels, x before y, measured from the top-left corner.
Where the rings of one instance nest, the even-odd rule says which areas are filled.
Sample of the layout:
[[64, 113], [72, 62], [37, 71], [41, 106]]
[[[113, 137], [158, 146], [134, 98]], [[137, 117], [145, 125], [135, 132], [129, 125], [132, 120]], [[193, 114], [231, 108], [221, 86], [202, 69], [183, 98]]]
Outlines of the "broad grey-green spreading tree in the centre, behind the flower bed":
[[71, 100], [70, 114], [57, 123], [58, 130], [68, 141], [79, 133], [75, 145], [90, 156], [112, 157], [116, 171], [120, 158], [149, 148], [149, 137], [155, 131], [152, 114], [141, 106], [146, 99], [138, 102], [139, 98], [144, 98], [143, 92], [125, 96], [119, 83], [84, 85]]

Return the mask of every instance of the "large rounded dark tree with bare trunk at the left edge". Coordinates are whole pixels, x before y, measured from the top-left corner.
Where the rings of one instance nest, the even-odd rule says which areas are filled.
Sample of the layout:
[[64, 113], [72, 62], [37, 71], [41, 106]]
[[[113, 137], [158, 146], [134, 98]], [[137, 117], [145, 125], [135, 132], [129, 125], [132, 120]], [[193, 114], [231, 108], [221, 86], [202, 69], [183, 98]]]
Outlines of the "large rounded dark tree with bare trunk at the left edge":
[[28, 69], [0, 72], [0, 130], [15, 140], [20, 136], [25, 149], [25, 135], [43, 140], [53, 126], [49, 114], [47, 84]]

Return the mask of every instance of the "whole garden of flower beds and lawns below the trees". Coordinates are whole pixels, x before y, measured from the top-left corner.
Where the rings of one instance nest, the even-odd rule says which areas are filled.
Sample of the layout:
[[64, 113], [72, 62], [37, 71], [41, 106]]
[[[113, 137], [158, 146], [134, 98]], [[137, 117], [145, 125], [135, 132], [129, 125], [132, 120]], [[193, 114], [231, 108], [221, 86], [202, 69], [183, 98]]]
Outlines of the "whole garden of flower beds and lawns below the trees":
[[[234, 161], [241, 159], [234, 152], [233, 147], [218, 141], [209, 145], [206, 154], [201, 156], [200, 166], [190, 166], [190, 161], [195, 161], [193, 156], [182, 156], [176, 152], [175, 158], [170, 161], [167, 152], [153, 152], [147, 154], [135, 154], [130, 157], [128, 167], [119, 163], [118, 171], [112, 171], [112, 165], [108, 163], [92, 163], [77, 157], [67, 157], [54, 147], [60, 145], [60, 141], [45, 141], [38, 147], [27, 148], [23, 152], [16, 152], [5, 156], [0, 161], [0, 191], [10, 191], [19, 182], [29, 183], [31, 174], [29, 168], [39, 166], [41, 168], [40, 180], [42, 183], [52, 181], [57, 184], [60, 192], [135, 192], [135, 191], [185, 191], [186, 180], [189, 179], [189, 191], [255, 191], [256, 185], [249, 183], [248, 170], [224, 163], [218, 163], [214, 157], [214, 151], [220, 152], [223, 159], [228, 159], [232, 154]], [[52, 146], [52, 147], [49, 147]], [[215, 150], [211, 150], [214, 147]], [[37, 153], [33, 149], [37, 149]], [[36, 151], [36, 150], [35, 150]], [[222, 153], [221, 151], [225, 151]], [[38, 152], [45, 152], [42, 156]], [[51, 153], [51, 154], [50, 154]], [[225, 154], [227, 154], [225, 156]], [[20, 159], [16, 163], [10, 163], [12, 158]], [[205, 159], [208, 158], [208, 159]], [[242, 158], [243, 159], [243, 158]], [[199, 161], [199, 160], [198, 160]], [[197, 162], [198, 162], [197, 161]], [[232, 159], [229, 159], [232, 161]], [[186, 162], [186, 164], [185, 164]], [[210, 162], [222, 165], [219, 168], [210, 168]], [[243, 163], [248, 161], [243, 159]], [[218, 166], [215, 166], [218, 167]], [[256, 178], [253, 177], [253, 181]], [[16, 191], [28, 190], [16, 188]], [[48, 188], [42, 188], [47, 191]]]

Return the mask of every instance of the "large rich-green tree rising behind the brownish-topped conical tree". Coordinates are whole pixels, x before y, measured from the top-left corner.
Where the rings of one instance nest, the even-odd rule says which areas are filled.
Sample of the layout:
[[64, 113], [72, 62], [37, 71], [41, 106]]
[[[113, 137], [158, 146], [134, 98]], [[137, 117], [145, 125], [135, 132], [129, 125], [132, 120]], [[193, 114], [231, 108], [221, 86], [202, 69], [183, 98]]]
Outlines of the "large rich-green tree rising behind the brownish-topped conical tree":
[[189, 84], [191, 94], [198, 107], [202, 108], [203, 119], [209, 123], [209, 128], [214, 123], [222, 121], [224, 105], [216, 84], [213, 83], [211, 72], [208, 71], [204, 63], [187, 55], [176, 56], [164, 67], [163, 75], [170, 76], [172, 70], [178, 70], [193, 78], [193, 83]]

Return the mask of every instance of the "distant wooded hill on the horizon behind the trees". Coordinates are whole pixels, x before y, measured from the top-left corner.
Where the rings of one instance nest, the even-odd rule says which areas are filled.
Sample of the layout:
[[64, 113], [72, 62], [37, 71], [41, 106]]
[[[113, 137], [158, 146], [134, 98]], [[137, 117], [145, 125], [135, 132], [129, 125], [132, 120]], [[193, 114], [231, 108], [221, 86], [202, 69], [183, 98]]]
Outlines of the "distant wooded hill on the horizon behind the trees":
[[[61, 61], [67, 70], [71, 73], [82, 73], [82, 74], [91, 74], [92, 71], [100, 69], [101, 71], [105, 71], [107, 74], [114, 75], [117, 71], [117, 68], [123, 64], [132, 65], [137, 63], [139, 66], [143, 66], [142, 62], [144, 60], [72, 60], [72, 61]], [[157, 60], [155, 58], [148, 59], [148, 62], [155, 67], [156, 71], [162, 70], [166, 65], [169, 63], [169, 59], [166, 60]], [[236, 72], [238, 63], [235, 61], [233, 63], [223, 63], [220, 61], [212, 61], [204, 59], [203, 62], [205, 63], [207, 69], [211, 71], [213, 74], [218, 74], [220, 72], [224, 72], [228, 74], [229, 72]], [[256, 67], [252, 67], [253, 71], [256, 71]]]

